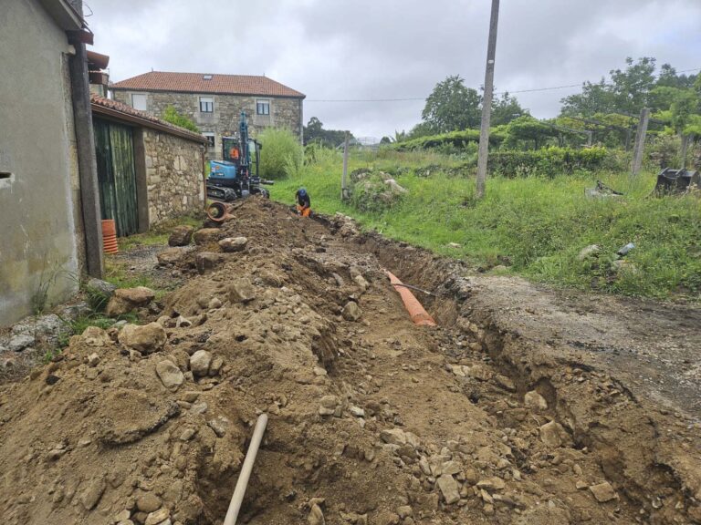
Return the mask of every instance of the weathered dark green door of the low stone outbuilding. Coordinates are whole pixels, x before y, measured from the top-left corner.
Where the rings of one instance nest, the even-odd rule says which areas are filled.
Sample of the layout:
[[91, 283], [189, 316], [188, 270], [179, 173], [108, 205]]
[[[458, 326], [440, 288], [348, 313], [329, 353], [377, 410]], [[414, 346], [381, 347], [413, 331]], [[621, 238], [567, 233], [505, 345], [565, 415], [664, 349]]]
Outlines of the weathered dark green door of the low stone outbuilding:
[[118, 236], [131, 235], [139, 231], [133, 130], [101, 118], [93, 128], [102, 219], [114, 219]]

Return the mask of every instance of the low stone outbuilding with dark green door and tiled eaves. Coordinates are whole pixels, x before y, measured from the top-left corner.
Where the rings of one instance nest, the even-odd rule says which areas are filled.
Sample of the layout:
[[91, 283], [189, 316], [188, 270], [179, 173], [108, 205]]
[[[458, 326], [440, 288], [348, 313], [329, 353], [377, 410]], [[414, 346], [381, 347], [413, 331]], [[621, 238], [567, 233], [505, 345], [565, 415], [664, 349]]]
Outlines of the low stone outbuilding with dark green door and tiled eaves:
[[101, 215], [118, 235], [204, 209], [207, 139], [95, 93], [91, 107]]

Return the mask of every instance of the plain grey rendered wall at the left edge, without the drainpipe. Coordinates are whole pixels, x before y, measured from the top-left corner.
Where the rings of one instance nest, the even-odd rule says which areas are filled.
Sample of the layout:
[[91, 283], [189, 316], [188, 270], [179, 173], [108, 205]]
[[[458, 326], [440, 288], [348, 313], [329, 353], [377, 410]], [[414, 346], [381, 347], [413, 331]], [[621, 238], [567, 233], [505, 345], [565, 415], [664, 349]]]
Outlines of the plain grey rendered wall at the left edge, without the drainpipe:
[[[66, 35], [37, 0], [0, 12], [0, 325], [77, 289], [78, 170]], [[7, 176], [6, 174], [11, 175]]]

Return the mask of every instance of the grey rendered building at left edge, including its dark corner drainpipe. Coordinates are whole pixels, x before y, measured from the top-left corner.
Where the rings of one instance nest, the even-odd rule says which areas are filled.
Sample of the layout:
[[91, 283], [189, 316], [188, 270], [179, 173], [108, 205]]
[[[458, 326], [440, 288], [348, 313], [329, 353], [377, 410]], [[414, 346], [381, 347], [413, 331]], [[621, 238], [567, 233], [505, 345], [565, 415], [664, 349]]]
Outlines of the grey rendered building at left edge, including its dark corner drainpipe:
[[2, 5], [0, 326], [102, 273], [82, 2]]

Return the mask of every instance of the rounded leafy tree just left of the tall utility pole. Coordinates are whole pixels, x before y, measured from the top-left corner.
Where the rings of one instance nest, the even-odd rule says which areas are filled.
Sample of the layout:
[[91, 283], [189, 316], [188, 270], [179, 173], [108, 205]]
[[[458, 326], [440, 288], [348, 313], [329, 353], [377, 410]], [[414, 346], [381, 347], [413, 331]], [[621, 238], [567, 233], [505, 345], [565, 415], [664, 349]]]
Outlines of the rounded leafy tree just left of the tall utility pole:
[[445, 133], [476, 128], [480, 121], [482, 98], [473, 88], [466, 88], [459, 76], [446, 77], [435, 85], [421, 112], [423, 124], [431, 133]]

